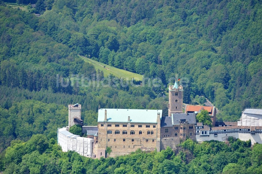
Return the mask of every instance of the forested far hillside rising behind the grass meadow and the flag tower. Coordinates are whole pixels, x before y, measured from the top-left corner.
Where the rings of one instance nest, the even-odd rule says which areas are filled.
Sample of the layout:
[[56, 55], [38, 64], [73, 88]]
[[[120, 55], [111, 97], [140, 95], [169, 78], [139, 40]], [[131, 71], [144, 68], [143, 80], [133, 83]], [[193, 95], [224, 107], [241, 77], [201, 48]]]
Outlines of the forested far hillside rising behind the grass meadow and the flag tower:
[[54, 40], [102, 63], [164, 84], [178, 73], [189, 79], [184, 102], [205, 95], [237, 119], [262, 106], [261, 9], [253, 0], [58, 0], [42, 22]]

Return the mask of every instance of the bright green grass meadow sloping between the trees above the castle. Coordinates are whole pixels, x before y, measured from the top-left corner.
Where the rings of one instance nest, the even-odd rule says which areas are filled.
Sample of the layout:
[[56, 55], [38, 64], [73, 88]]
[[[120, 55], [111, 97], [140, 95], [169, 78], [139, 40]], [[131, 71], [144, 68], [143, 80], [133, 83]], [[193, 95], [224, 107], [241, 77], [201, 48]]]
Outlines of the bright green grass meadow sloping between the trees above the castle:
[[104, 76], [107, 76], [109, 74], [113, 74], [114, 76], [118, 77], [118, 78], [127, 78], [129, 80], [131, 80], [132, 78], [134, 78], [134, 80], [137, 81], [142, 81], [142, 75], [134, 73], [134, 72], [129, 72], [123, 69], [119, 69], [89, 58], [86, 58], [84, 56], [79, 55], [79, 57], [81, 57], [85, 62], [91, 63], [92, 65], [94, 65], [96, 71], [100, 70], [104, 72]]

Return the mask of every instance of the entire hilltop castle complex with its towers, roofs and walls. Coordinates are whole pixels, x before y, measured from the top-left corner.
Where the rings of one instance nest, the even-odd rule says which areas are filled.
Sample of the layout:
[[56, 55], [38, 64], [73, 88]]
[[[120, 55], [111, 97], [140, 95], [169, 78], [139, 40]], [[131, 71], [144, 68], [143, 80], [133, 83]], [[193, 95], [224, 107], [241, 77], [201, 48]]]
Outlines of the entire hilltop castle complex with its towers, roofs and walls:
[[[58, 144], [63, 151], [77, 151], [91, 158], [129, 154], [143, 151], [176, 149], [187, 138], [203, 142], [227, 141], [228, 137], [262, 143], [262, 109], [246, 108], [238, 122], [216, 122], [214, 106], [186, 105], [183, 112], [183, 87], [168, 86], [168, 116], [162, 110], [148, 109], [100, 109], [97, 126], [85, 126], [81, 120], [81, 105], [68, 105], [68, 127], [58, 129]], [[197, 122], [196, 114], [207, 110], [212, 126]], [[87, 138], [68, 132], [69, 127], [79, 124]]]

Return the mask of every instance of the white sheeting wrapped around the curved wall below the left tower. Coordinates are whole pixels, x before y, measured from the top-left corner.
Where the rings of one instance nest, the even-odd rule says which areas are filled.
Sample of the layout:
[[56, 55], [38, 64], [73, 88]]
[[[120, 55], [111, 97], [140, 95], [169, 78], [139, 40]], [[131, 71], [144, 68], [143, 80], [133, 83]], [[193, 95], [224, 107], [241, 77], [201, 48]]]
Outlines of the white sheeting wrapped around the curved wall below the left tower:
[[79, 135], [68, 132], [66, 128], [59, 129], [57, 137], [58, 144], [62, 147], [64, 152], [72, 150], [83, 156], [91, 156], [94, 139], [79, 137]]

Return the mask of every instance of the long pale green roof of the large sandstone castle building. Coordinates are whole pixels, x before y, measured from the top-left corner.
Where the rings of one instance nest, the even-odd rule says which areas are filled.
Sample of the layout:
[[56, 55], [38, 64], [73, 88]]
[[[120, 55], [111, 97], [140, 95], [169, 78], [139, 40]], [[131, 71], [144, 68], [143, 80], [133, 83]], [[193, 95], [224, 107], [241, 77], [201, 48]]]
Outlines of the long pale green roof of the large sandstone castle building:
[[[130, 123], [157, 123], [157, 113], [162, 117], [162, 110], [149, 109], [106, 109], [107, 122], [128, 122]], [[105, 109], [98, 110], [97, 122], [105, 119]]]

